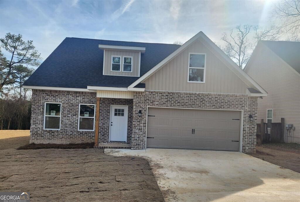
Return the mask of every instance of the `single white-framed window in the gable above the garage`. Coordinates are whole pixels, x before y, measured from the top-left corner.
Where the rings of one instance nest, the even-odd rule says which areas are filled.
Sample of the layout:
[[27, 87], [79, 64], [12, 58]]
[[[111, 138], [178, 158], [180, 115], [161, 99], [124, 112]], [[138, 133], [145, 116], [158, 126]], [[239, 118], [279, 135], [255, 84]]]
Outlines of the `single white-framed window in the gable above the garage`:
[[205, 82], [205, 59], [204, 53], [189, 53], [188, 82]]

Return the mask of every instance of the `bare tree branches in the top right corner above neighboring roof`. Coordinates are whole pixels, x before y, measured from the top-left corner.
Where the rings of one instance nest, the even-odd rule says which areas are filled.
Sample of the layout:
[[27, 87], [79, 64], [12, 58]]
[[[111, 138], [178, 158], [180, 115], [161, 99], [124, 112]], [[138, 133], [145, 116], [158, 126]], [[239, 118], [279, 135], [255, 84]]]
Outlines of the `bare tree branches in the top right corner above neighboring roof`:
[[275, 14], [282, 22], [279, 29], [285, 33], [300, 33], [300, 0], [285, 0], [275, 4]]

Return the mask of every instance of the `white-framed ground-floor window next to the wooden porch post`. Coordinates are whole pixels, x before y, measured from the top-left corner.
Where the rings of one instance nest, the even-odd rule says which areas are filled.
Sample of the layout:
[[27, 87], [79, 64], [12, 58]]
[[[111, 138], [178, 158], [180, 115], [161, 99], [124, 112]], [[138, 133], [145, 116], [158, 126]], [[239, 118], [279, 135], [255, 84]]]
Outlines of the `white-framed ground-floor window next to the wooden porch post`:
[[79, 104], [78, 130], [94, 131], [95, 105]]

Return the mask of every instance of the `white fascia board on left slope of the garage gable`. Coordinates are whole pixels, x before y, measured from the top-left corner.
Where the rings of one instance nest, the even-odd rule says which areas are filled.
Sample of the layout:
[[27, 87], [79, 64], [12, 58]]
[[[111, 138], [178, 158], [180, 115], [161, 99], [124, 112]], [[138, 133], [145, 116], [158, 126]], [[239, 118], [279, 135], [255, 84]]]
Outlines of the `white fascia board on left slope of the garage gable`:
[[149, 70], [146, 74], [140, 77], [140, 79], [137, 79], [134, 83], [132, 83], [129, 88], [133, 88], [134, 86], [138, 85], [143, 80], [147, 79], [149, 76], [151, 76], [153, 73], [155, 73], [157, 70], [159, 70], [162, 66], [164, 66], [167, 62], [175, 58], [179, 53], [181, 53], [184, 49], [186, 49], [190, 44], [192, 44], [196, 39], [199, 38], [202, 31], [200, 31], [198, 34], [193, 36], [190, 40], [185, 42], [182, 46], [180, 46], [178, 49], [176, 49], [173, 53], [171, 53], [169, 56], [167, 56], [165, 59], [163, 59], [160, 63], [155, 65], [151, 70]]

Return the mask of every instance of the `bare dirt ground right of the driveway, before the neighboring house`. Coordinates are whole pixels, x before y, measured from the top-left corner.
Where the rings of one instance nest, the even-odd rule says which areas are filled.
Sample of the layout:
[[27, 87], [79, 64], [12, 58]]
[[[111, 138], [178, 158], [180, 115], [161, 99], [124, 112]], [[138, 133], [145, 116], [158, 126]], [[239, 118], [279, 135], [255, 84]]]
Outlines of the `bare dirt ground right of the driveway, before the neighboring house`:
[[300, 173], [299, 144], [258, 144], [256, 145], [256, 153], [247, 154]]

